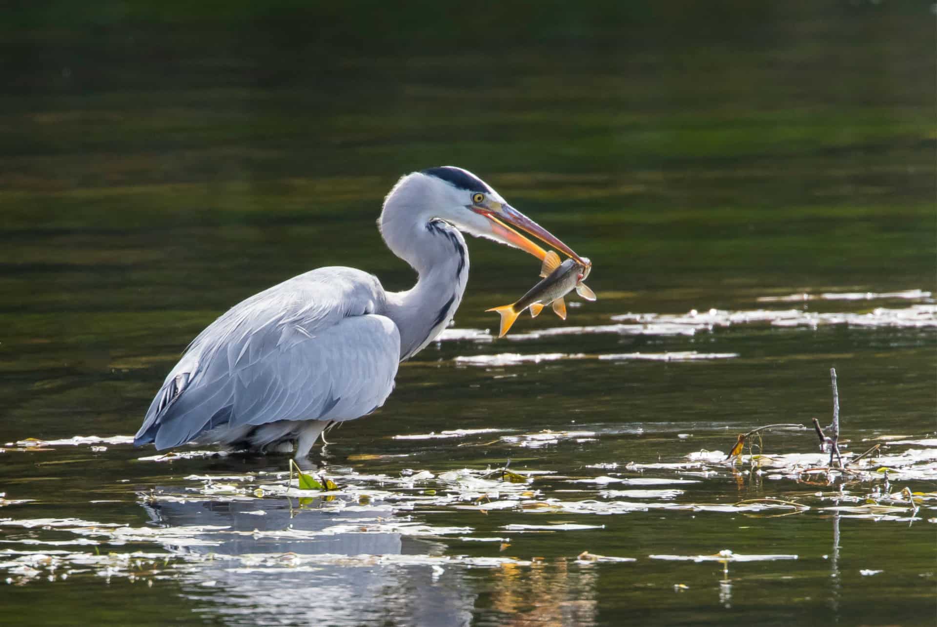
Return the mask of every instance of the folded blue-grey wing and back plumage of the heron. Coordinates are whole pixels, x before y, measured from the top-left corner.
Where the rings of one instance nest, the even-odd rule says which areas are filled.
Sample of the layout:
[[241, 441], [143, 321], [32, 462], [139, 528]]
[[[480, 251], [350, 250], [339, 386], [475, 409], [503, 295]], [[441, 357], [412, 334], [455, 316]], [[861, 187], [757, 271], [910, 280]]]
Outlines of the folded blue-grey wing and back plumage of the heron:
[[170, 448], [218, 426], [350, 420], [394, 388], [400, 336], [374, 276], [320, 268], [234, 306], [189, 346], [135, 443]]

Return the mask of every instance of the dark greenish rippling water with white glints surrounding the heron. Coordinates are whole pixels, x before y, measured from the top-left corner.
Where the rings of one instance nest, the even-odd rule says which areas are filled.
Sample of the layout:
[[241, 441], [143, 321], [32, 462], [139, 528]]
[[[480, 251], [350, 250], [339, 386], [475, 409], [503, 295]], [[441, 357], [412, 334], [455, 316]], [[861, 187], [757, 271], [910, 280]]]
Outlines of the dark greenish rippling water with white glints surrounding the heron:
[[[887, 4], [505, 7], [448, 35], [416, 5], [22, 9], [0, 26], [5, 618], [932, 624], [932, 17]], [[286, 277], [408, 287], [374, 220], [443, 163], [589, 256], [599, 300], [496, 340], [483, 310], [537, 262], [469, 241], [454, 330], [312, 455], [339, 493], [289, 491], [285, 456], [53, 441], [132, 434], [191, 337]], [[811, 470], [830, 367], [843, 452], [882, 444], [846, 476]], [[724, 460], [772, 423], [810, 429]], [[508, 460], [528, 483], [484, 477]]]

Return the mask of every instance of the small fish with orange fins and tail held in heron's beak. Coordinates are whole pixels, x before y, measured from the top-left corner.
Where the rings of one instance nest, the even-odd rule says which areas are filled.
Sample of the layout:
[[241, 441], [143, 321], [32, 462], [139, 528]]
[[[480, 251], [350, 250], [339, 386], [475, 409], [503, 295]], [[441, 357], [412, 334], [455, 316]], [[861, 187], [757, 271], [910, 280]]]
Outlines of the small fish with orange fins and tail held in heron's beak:
[[546, 253], [540, 272], [543, 280], [530, 288], [526, 294], [511, 305], [486, 309], [486, 311], [497, 311], [501, 316], [501, 330], [498, 337], [506, 336], [517, 317], [528, 307], [530, 316], [536, 318], [543, 311], [544, 306], [552, 305], [553, 311], [560, 318], [566, 320], [566, 302], [563, 297], [573, 289], [586, 300], [594, 301], [595, 292], [589, 290], [587, 285], [583, 283], [592, 270], [592, 264], [588, 261], [588, 258], [584, 257], [582, 259], [587, 262], [587, 265], [582, 265], [572, 259], [560, 263], [559, 255], [556, 252], [551, 250]]

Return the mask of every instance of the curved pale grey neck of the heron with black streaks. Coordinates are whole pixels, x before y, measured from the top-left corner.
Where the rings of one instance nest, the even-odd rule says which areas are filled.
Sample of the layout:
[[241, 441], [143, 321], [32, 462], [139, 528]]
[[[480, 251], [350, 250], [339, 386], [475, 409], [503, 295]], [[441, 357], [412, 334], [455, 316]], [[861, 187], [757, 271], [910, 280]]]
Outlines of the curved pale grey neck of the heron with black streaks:
[[381, 215], [381, 234], [419, 278], [407, 291], [388, 292], [384, 314], [400, 331], [400, 361], [409, 359], [453, 320], [468, 280], [468, 248], [457, 229], [435, 217], [402, 222]]

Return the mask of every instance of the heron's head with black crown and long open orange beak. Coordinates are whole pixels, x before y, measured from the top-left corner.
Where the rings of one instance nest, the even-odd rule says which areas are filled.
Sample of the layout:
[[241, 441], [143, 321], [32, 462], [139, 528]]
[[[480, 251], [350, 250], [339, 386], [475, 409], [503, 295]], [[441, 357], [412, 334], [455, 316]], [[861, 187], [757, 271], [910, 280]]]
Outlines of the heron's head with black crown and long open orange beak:
[[[433, 187], [433, 212], [451, 222], [460, 231], [486, 237], [501, 244], [514, 246], [543, 259], [546, 251], [514, 228], [527, 231], [551, 248], [588, 265], [550, 231], [514, 209], [500, 194], [468, 170], [454, 166], [430, 168], [424, 175], [425, 184]], [[411, 175], [412, 176], [412, 175]], [[512, 228], [514, 227], [514, 228]]]

